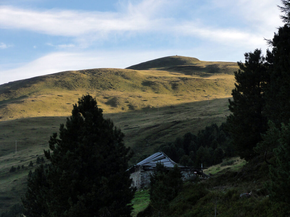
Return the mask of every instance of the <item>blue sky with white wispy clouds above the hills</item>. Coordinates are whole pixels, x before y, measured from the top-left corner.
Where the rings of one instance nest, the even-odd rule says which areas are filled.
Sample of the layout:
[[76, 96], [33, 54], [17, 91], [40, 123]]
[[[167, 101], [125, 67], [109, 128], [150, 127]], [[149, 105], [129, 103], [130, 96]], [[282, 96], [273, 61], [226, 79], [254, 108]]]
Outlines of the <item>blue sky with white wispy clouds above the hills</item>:
[[165, 56], [244, 62], [283, 25], [279, 0], [0, 0], [0, 84]]

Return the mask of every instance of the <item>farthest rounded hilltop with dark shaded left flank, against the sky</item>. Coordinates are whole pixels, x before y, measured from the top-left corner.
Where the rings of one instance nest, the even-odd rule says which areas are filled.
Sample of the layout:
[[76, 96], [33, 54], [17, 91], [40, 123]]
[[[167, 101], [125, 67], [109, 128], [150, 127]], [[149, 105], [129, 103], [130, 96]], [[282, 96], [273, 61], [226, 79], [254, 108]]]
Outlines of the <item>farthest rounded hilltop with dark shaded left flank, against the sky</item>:
[[167, 56], [142, 62], [126, 69], [164, 70], [188, 75], [202, 75], [202, 73], [227, 73], [233, 75], [233, 72], [238, 70], [238, 65], [236, 62], [209, 62], [193, 57]]

